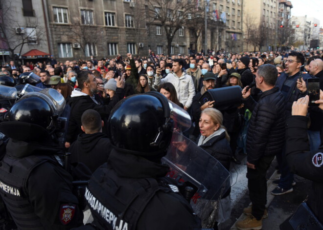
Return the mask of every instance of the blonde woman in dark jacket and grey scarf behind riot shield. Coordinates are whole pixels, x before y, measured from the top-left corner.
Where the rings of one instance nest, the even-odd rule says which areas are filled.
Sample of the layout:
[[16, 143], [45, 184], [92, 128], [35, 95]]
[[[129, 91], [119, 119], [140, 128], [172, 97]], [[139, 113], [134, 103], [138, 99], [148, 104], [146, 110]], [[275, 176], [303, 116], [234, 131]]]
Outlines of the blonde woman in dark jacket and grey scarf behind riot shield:
[[[207, 151], [212, 157], [217, 159], [228, 171], [230, 171], [230, 163], [232, 151], [229, 144], [230, 137], [223, 124], [222, 113], [215, 108], [206, 108], [201, 113], [199, 122], [201, 137], [198, 146]], [[202, 219], [203, 228], [214, 228], [217, 230], [218, 222], [224, 222], [230, 218], [231, 204], [230, 192], [228, 191], [222, 196], [221, 200], [214, 201], [213, 210]], [[216, 204], [218, 203], [218, 204]]]

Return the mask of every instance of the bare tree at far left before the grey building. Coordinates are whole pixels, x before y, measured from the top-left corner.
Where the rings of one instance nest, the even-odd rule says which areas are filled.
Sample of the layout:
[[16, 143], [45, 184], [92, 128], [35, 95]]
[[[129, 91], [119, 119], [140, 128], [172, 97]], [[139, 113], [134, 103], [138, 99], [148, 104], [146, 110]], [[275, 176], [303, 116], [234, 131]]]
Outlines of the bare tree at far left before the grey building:
[[9, 59], [17, 63], [18, 56], [15, 52], [21, 52], [25, 44], [39, 44], [42, 37], [45, 35], [45, 28], [40, 26], [37, 17], [32, 20], [28, 18], [24, 24], [15, 20], [13, 7], [11, 1], [0, 1], [0, 41], [5, 44], [6, 49], [9, 51]]

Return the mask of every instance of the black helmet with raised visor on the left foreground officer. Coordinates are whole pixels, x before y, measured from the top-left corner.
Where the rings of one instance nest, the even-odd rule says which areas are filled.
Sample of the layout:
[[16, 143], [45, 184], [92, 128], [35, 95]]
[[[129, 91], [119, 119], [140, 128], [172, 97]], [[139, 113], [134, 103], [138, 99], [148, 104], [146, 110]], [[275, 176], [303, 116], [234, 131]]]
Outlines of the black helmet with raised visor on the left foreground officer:
[[64, 97], [55, 89], [30, 92], [11, 107], [0, 131], [19, 141], [46, 139], [54, 132], [64, 107]]

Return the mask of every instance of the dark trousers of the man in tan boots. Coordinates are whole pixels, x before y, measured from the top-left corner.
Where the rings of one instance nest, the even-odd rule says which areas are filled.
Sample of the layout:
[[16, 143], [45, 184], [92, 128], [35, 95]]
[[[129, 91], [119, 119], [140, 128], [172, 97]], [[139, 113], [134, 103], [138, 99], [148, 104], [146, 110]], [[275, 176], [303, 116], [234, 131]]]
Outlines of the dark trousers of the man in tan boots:
[[261, 220], [267, 203], [267, 180], [266, 172], [275, 156], [261, 157], [255, 165], [255, 169], [247, 168], [248, 189], [252, 214], [257, 220]]

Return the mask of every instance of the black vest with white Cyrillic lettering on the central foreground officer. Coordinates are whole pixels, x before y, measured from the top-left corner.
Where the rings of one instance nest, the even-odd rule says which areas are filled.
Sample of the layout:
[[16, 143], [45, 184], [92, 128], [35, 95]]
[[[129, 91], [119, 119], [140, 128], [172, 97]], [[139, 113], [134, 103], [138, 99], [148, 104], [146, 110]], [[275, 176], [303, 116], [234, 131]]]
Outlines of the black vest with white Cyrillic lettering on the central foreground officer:
[[138, 219], [157, 191], [173, 192], [153, 178], [122, 178], [107, 166], [92, 175], [85, 199], [99, 229], [135, 230]]

